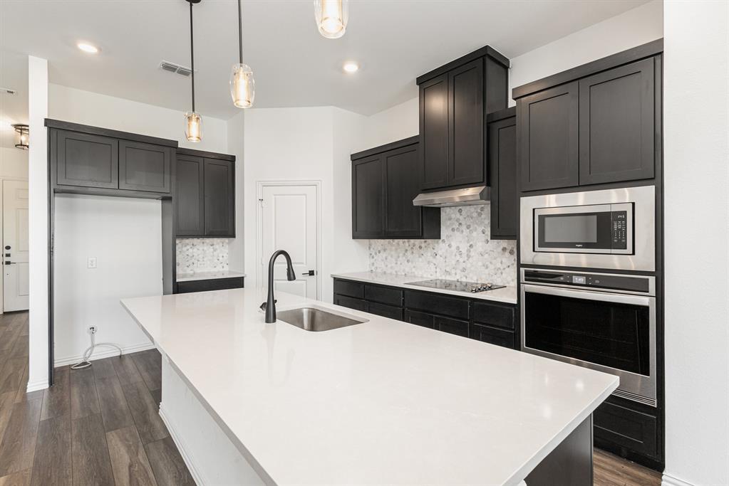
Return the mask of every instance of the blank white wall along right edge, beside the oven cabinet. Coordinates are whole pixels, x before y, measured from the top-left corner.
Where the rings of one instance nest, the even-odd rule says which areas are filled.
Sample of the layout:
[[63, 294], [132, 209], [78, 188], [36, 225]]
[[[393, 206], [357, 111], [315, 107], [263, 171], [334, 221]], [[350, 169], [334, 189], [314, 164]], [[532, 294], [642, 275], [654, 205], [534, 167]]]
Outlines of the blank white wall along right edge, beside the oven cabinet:
[[665, 9], [664, 484], [728, 485], [729, 3]]

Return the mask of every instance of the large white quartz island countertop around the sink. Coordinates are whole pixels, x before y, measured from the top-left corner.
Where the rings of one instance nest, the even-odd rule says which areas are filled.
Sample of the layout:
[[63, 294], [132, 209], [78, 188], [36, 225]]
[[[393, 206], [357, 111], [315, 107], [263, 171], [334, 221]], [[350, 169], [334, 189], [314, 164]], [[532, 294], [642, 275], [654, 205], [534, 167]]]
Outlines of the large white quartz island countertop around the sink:
[[369, 320], [265, 324], [254, 289], [122, 300], [268, 483], [516, 485], [617, 387], [613, 375], [276, 298], [279, 313], [316, 305]]

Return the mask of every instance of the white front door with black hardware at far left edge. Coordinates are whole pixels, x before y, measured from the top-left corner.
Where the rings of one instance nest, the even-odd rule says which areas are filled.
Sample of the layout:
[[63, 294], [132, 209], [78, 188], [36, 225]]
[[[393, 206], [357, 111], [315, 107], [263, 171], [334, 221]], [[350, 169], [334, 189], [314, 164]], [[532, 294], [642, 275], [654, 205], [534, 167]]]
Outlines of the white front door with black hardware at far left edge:
[[[3, 310], [28, 309], [28, 181], [4, 180]], [[9, 262], [9, 263], [8, 263]]]

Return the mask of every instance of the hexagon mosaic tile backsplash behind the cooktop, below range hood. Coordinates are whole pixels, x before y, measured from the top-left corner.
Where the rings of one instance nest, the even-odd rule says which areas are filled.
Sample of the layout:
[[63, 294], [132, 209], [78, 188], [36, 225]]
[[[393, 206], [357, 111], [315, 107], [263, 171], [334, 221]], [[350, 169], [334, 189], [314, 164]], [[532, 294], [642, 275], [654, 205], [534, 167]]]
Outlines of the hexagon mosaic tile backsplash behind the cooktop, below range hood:
[[492, 240], [491, 207], [443, 207], [441, 239], [370, 240], [370, 271], [516, 284], [516, 242]]

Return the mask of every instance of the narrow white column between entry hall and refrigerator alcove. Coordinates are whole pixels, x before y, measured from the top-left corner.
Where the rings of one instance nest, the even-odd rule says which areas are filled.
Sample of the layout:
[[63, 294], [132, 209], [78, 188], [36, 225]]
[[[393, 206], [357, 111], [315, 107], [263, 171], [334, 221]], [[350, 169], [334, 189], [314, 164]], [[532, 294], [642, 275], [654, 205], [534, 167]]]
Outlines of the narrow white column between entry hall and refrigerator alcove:
[[48, 387], [48, 61], [28, 56], [28, 237], [30, 332], [28, 391]]

